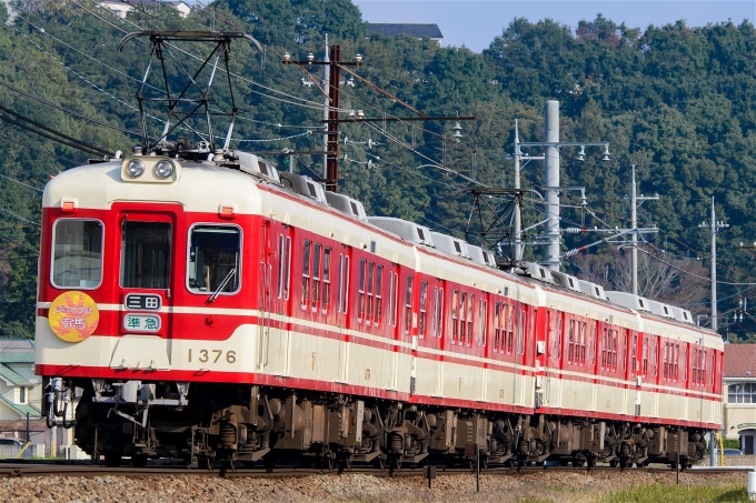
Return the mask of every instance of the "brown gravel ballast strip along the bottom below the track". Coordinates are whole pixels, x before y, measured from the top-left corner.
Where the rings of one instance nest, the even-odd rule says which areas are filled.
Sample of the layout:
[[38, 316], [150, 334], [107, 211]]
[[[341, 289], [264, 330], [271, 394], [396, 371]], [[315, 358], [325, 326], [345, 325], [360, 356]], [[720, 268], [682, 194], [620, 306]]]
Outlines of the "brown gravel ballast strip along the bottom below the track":
[[[746, 472], [682, 473], [680, 485], [746, 484]], [[0, 502], [591, 502], [634, 485], [674, 485], [674, 472], [529, 472], [480, 476], [440, 475], [428, 490], [420, 476], [317, 474], [300, 477], [39, 476], [0, 480]]]

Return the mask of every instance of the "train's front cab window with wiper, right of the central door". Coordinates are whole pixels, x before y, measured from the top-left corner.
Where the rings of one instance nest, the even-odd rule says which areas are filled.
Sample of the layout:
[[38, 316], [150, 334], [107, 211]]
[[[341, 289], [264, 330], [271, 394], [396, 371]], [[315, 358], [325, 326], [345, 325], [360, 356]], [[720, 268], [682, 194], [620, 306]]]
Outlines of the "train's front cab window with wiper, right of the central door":
[[189, 291], [233, 293], [239, 290], [241, 230], [231, 225], [195, 225], [189, 231]]

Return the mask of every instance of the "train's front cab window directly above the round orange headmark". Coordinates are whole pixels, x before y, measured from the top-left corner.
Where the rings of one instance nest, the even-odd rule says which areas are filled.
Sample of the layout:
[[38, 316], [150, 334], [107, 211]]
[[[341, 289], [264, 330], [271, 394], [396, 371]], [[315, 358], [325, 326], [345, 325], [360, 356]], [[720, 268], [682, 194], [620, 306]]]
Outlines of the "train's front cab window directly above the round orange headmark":
[[102, 223], [61, 219], [54, 224], [52, 284], [96, 289], [102, 282]]

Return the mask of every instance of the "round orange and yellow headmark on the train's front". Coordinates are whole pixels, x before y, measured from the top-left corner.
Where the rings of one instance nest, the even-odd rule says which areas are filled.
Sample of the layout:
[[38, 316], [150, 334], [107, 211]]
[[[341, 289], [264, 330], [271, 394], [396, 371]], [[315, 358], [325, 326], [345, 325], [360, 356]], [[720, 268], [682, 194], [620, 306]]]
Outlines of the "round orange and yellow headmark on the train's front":
[[66, 292], [50, 304], [50, 328], [67, 342], [81, 342], [94, 332], [100, 311], [94, 300], [84, 292]]

